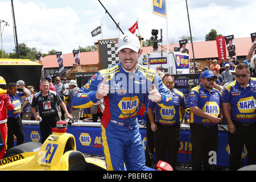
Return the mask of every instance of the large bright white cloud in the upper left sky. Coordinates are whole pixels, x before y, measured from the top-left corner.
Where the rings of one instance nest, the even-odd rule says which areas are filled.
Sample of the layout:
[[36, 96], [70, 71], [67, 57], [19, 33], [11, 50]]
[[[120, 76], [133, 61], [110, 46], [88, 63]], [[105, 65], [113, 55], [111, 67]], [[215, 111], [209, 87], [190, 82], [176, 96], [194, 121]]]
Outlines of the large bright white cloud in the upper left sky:
[[[7, 19], [12, 26], [11, 11], [8, 8], [10, 6], [10, 3], [0, 3], [0, 7], [8, 9], [3, 14], [8, 15]], [[14, 1], [14, 9], [18, 43], [24, 42], [28, 47], [36, 47], [44, 53], [51, 49], [69, 53], [72, 52], [71, 47], [78, 47], [78, 38], [85, 40], [85, 37], [79, 34], [80, 19], [71, 7], [46, 9], [43, 4]], [[6, 41], [9, 42], [4, 46], [7, 52], [12, 52], [15, 47], [14, 41], [10, 40], [13, 39], [11, 26], [4, 32]], [[11, 42], [13, 44], [10, 44]]]

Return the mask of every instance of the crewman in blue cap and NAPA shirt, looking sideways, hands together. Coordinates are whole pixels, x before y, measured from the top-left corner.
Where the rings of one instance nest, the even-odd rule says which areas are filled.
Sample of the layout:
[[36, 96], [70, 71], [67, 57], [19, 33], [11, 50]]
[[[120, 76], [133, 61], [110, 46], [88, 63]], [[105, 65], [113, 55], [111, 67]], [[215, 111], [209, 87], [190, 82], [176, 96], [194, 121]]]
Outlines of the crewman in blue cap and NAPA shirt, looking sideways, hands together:
[[192, 142], [192, 170], [201, 171], [202, 159], [204, 171], [212, 170], [210, 151], [217, 152], [218, 123], [222, 121], [221, 94], [213, 88], [216, 80], [212, 71], [204, 71], [200, 85], [191, 89], [187, 104], [191, 110], [190, 131]]

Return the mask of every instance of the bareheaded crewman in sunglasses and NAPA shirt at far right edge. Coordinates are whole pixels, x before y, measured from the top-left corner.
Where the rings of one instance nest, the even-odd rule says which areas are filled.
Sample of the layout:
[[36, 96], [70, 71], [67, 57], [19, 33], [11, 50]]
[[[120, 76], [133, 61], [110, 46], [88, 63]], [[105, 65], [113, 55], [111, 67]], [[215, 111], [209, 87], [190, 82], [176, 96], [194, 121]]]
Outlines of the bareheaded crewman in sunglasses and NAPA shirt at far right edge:
[[249, 67], [243, 63], [237, 65], [234, 77], [236, 80], [222, 94], [229, 131], [230, 171], [240, 168], [244, 144], [248, 151], [247, 165], [256, 164], [256, 78], [250, 78]]

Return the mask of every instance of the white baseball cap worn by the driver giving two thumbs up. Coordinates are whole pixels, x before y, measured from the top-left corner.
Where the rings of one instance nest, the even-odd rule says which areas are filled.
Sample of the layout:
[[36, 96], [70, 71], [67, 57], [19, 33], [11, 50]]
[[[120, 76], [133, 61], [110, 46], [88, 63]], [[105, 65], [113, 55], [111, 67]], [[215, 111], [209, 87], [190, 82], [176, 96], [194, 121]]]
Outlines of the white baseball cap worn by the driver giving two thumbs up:
[[118, 39], [117, 52], [122, 49], [132, 49], [135, 52], [139, 52], [141, 49], [141, 43], [139, 42], [139, 38], [133, 34], [124, 34]]

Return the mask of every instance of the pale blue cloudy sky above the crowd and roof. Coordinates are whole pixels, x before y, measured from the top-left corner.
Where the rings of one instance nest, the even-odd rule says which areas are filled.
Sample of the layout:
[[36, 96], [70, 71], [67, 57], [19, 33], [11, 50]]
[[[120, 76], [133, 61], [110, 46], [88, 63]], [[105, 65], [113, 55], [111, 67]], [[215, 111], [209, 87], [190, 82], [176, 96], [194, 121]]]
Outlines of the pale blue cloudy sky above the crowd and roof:
[[[154, 0], [100, 0], [121, 30], [138, 20], [140, 34], [150, 39], [151, 30], [163, 29], [163, 44], [167, 40], [178, 43], [181, 36], [189, 36], [188, 14], [185, 0], [167, 0], [167, 19], [152, 13]], [[160, 0], [157, 0], [159, 2]], [[113, 20], [97, 0], [14, 0], [14, 14], [18, 43], [48, 53], [51, 49], [72, 53], [79, 46], [92, 46], [101, 39], [122, 35]], [[255, 0], [187, 0], [193, 42], [205, 40], [215, 29], [217, 34], [250, 37], [256, 32]], [[0, 0], [0, 20], [9, 26], [3, 29], [2, 43], [6, 52], [14, 52], [14, 25], [11, 0]], [[102, 34], [92, 37], [91, 31], [102, 25]], [[167, 34], [168, 30], [168, 34]]]

